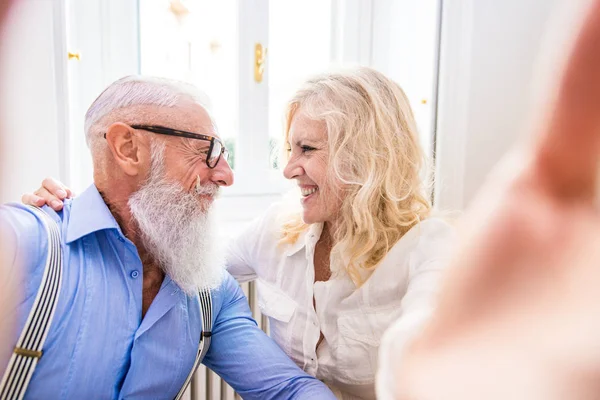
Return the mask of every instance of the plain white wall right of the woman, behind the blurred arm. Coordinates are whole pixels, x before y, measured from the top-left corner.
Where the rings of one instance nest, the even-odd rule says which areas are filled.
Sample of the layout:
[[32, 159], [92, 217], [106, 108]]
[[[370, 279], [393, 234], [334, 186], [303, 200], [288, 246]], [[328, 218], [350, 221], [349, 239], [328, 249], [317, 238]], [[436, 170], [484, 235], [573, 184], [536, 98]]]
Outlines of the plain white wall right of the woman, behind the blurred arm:
[[461, 210], [525, 133], [540, 46], [555, 7], [562, 3], [567, 10], [581, 1], [444, 3], [436, 203]]

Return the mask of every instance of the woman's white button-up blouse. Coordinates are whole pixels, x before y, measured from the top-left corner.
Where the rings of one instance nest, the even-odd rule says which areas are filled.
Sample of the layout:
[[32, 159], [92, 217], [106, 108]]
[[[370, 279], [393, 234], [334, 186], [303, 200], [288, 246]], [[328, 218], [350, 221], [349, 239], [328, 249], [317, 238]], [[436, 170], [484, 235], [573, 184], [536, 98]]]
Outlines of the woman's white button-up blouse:
[[271, 337], [300, 368], [338, 398], [375, 399], [380, 339], [398, 319], [410, 336], [430, 314], [454, 230], [440, 219], [421, 222], [357, 288], [346, 273], [314, 282], [322, 224], [310, 225], [295, 244], [280, 245], [282, 209], [272, 206], [230, 243], [228, 270], [240, 282], [257, 280]]

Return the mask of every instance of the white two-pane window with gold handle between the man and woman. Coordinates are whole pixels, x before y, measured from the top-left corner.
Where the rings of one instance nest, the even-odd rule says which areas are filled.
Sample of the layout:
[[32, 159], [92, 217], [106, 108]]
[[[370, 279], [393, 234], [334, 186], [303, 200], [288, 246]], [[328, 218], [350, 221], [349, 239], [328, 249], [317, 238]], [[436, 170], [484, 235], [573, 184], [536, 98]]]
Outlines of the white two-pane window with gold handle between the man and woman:
[[139, 0], [141, 73], [191, 82], [211, 99], [235, 171], [218, 202], [230, 233], [290, 187], [278, 169], [284, 106], [302, 80], [343, 54], [336, 29], [345, 14], [335, 7], [335, 0]]

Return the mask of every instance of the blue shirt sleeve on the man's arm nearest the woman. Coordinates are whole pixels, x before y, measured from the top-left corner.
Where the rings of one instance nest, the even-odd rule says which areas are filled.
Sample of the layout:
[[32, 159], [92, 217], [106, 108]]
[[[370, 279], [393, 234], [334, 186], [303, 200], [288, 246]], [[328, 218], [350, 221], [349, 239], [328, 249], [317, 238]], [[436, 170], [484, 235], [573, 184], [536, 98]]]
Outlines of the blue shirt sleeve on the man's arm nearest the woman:
[[[219, 289], [221, 309], [203, 363], [244, 399], [335, 399], [260, 330], [248, 301], [231, 278]], [[219, 305], [216, 302], [216, 306]]]

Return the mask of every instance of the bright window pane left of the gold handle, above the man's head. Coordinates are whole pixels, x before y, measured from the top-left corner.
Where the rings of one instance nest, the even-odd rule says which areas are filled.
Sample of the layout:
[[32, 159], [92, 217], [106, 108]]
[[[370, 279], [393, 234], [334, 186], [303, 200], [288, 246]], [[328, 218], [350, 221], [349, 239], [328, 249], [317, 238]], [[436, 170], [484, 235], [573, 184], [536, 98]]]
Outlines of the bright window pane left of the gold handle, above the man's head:
[[143, 75], [190, 82], [207, 93], [235, 163], [238, 132], [236, 0], [140, 0]]

